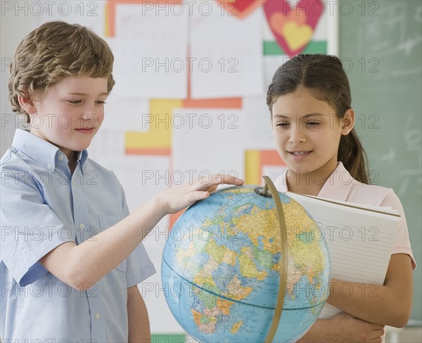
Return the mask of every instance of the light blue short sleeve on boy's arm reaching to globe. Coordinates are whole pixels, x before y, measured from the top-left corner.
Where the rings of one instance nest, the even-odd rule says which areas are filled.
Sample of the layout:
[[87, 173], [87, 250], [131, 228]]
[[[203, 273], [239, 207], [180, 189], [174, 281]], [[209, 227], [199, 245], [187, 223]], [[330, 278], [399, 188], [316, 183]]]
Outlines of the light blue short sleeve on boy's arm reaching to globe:
[[34, 178], [1, 169], [1, 261], [21, 287], [48, 272], [39, 259], [74, 241], [70, 231], [46, 205]]

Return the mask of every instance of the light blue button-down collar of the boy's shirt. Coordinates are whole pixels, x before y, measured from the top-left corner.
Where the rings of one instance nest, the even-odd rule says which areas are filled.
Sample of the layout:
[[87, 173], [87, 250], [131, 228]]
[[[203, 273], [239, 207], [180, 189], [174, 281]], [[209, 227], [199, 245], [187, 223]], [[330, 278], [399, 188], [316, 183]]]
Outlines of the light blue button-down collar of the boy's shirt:
[[[58, 164], [60, 164], [60, 169], [68, 169], [68, 157], [56, 145], [44, 141], [44, 139], [31, 134], [30, 131], [16, 129], [12, 146], [47, 169], [56, 169]], [[78, 153], [77, 162], [81, 165], [81, 169], [87, 157], [87, 150]]]

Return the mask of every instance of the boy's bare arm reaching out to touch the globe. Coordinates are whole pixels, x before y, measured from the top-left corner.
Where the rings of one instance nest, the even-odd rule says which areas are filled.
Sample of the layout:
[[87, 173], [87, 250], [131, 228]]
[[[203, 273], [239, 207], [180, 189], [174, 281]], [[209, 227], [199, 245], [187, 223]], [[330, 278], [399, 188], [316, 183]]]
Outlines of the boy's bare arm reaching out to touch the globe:
[[80, 245], [65, 242], [39, 261], [64, 283], [77, 290], [87, 290], [126, 259], [163, 216], [207, 198], [222, 183], [241, 185], [243, 180], [215, 175], [207, 183], [197, 181], [192, 185], [174, 186], [106, 231]]

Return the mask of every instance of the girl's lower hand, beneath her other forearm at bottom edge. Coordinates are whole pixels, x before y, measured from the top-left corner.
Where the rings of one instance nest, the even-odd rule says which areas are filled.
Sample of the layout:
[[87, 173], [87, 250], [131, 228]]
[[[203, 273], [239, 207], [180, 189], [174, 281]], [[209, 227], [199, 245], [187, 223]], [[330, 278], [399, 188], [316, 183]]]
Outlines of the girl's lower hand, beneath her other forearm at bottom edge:
[[335, 338], [340, 342], [344, 339], [347, 342], [382, 342], [384, 325], [369, 323], [362, 319], [350, 316], [341, 312], [330, 318], [331, 325], [335, 328]]

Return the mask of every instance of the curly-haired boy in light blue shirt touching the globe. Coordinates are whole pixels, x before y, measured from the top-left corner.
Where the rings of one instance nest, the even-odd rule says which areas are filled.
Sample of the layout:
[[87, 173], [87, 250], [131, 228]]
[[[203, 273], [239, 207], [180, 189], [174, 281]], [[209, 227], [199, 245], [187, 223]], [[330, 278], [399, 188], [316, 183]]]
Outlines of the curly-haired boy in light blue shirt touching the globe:
[[41, 25], [16, 48], [9, 99], [31, 128], [16, 130], [1, 159], [3, 342], [149, 339], [136, 285], [154, 267], [141, 241], [162, 216], [224, 181], [169, 188], [129, 215], [115, 175], [86, 150], [115, 84], [112, 69], [106, 42], [66, 22]]

